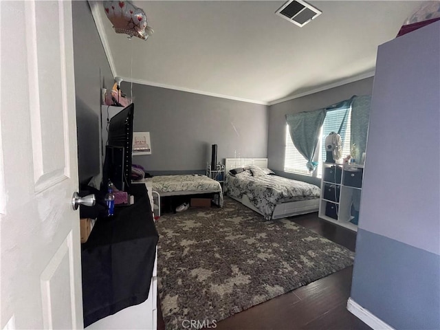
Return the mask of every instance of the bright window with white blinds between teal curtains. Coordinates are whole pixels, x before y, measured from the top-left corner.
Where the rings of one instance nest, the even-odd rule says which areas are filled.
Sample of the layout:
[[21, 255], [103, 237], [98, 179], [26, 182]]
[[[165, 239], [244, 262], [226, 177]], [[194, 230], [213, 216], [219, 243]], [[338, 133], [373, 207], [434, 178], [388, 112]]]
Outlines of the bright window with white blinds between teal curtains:
[[[285, 161], [284, 161], [284, 171], [287, 173], [296, 173], [301, 175], [308, 175], [313, 177], [321, 177], [322, 175], [322, 162], [327, 159], [327, 153], [325, 152], [325, 137], [331, 132], [338, 132], [340, 124], [344, 118], [346, 108], [340, 108], [335, 110], [327, 111], [325, 115], [324, 124], [322, 124], [321, 133], [318, 141], [318, 146], [315, 153], [315, 161], [318, 162], [318, 167], [313, 173], [309, 173], [307, 170], [307, 160], [299, 153], [295, 148], [292, 138], [289, 133], [289, 125], [286, 124], [286, 144], [285, 144]], [[341, 130], [341, 140], [342, 140], [342, 157], [346, 157], [350, 154], [350, 135], [351, 135], [351, 108], [345, 118], [344, 126]]]

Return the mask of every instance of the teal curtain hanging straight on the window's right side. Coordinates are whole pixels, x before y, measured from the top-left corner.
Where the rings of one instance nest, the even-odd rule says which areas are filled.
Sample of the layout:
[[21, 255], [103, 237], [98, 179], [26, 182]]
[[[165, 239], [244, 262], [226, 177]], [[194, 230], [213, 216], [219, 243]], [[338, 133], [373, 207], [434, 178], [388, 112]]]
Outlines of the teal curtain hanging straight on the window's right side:
[[351, 145], [355, 144], [354, 155], [360, 162], [362, 153], [366, 150], [366, 135], [369, 131], [371, 96], [355, 96], [351, 104]]

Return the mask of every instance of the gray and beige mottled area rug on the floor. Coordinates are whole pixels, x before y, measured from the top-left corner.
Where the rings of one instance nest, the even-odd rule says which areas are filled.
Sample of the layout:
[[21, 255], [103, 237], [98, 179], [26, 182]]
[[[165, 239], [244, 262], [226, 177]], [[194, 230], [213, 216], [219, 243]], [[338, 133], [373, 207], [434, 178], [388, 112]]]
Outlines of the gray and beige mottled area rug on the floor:
[[354, 259], [347, 248], [289, 219], [263, 221], [229, 197], [223, 208], [164, 214], [156, 227], [166, 329], [183, 329], [185, 320], [218, 322], [349, 267]]

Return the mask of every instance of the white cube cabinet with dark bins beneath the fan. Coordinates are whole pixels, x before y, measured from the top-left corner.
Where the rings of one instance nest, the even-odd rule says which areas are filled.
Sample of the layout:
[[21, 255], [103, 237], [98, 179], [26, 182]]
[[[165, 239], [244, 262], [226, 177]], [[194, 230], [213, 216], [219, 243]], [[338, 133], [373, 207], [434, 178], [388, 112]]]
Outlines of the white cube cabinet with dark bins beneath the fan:
[[323, 165], [319, 217], [358, 230], [364, 168], [360, 165]]

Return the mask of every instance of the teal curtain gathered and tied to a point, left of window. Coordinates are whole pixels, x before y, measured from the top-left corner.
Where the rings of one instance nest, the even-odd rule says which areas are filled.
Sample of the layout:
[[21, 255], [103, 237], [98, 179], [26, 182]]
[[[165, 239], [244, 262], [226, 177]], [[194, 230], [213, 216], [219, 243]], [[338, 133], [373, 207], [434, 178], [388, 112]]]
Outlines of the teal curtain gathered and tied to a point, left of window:
[[292, 142], [300, 154], [307, 159], [307, 168], [310, 172], [313, 172], [318, 165], [313, 159], [326, 112], [326, 109], [319, 109], [286, 115]]

